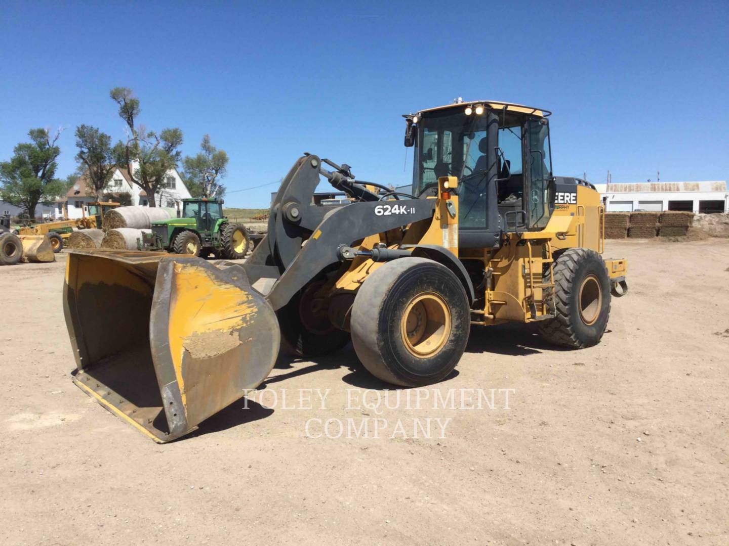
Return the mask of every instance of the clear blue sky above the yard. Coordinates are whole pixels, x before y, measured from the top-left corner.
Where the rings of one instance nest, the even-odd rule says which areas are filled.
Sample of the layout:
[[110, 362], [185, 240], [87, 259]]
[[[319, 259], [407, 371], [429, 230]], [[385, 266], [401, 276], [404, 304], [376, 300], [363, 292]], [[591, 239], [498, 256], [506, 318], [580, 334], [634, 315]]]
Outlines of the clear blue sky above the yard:
[[[400, 114], [467, 100], [553, 111], [555, 174], [603, 182], [729, 178], [729, 2], [19, 2], [0, 5], [0, 160], [31, 127], [122, 138], [109, 89], [150, 129], [203, 134], [232, 191], [303, 151], [408, 183]], [[409, 149], [408, 151], [411, 151]], [[227, 205], [266, 207], [266, 186]]]

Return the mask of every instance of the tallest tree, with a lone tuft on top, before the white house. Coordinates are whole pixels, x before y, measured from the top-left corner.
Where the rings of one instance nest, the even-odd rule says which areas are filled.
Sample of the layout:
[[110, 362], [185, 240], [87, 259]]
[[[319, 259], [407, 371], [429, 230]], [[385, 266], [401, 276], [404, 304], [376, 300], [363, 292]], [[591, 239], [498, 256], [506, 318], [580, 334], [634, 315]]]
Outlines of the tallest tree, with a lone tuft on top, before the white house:
[[109, 96], [119, 106], [119, 116], [127, 124], [126, 141], [119, 141], [112, 150], [117, 166], [129, 171], [130, 179], [147, 193], [150, 207], [156, 207], [156, 195], [164, 188], [165, 175], [177, 167], [182, 156], [182, 131], [164, 129], [147, 131], [137, 123], [139, 99], [128, 87], [114, 87]]

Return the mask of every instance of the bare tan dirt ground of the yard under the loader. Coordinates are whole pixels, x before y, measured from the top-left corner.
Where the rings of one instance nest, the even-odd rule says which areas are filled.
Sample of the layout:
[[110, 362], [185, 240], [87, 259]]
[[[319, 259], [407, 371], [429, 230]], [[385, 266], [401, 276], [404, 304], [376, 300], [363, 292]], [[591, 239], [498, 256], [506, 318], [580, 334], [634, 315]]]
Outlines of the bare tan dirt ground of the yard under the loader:
[[729, 544], [729, 240], [606, 256], [631, 290], [597, 347], [473, 328], [457, 373], [399, 403], [351, 347], [281, 361], [161, 446], [71, 383], [65, 259], [0, 268], [0, 542]]

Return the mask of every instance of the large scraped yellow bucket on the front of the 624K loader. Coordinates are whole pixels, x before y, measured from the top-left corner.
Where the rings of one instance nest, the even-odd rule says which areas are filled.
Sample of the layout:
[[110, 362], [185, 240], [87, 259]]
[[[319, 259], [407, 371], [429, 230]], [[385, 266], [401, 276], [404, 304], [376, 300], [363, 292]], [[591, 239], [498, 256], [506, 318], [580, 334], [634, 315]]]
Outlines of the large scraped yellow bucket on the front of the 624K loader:
[[278, 355], [276, 313], [239, 266], [71, 250], [63, 295], [74, 383], [159, 443], [256, 388]]

